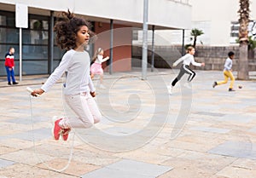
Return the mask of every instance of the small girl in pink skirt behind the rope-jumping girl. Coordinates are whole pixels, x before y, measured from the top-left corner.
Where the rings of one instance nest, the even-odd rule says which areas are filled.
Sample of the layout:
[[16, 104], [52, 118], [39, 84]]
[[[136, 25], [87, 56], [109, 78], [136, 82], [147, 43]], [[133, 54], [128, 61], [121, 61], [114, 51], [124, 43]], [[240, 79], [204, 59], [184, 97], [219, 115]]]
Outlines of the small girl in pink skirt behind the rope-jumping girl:
[[99, 48], [96, 50], [96, 54], [93, 57], [93, 64], [90, 66], [90, 77], [93, 78], [94, 75], [100, 75], [100, 88], [105, 89], [103, 85], [103, 69], [102, 69], [102, 62], [109, 60], [109, 57], [103, 58], [104, 50]]

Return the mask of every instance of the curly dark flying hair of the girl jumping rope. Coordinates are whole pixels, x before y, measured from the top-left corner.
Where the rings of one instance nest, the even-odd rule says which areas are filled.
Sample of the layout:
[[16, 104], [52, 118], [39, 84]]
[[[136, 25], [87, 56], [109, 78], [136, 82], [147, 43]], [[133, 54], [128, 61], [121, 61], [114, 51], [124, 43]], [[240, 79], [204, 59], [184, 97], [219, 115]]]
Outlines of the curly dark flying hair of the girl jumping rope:
[[[77, 32], [81, 26], [87, 26], [90, 28], [90, 23], [82, 18], [75, 17], [73, 13], [67, 10], [59, 14], [54, 32], [56, 32], [56, 43], [61, 49], [74, 49], [76, 47]], [[93, 35], [90, 32], [90, 35]]]

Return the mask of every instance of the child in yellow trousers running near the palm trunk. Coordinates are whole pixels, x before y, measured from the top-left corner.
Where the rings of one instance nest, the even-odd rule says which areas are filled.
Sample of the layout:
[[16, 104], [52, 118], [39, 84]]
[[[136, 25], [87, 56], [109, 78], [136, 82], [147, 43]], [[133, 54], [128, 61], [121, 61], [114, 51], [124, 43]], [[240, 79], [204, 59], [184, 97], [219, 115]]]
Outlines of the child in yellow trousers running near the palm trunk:
[[229, 55], [229, 57], [226, 59], [225, 64], [224, 64], [224, 81], [214, 82], [212, 84], [212, 87], [215, 88], [217, 85], [228, 83], [228, 80], [230, 78], [231, 82], [230, 82], [229, 91], [235, 91], [235, 89], [233, 89], [233, 85], [235, 83], [235, 78], [232, 73], [232, 64], [233, 64], [232, 60], [235, 57], [235, 53], [230, 51], [228, 55]]

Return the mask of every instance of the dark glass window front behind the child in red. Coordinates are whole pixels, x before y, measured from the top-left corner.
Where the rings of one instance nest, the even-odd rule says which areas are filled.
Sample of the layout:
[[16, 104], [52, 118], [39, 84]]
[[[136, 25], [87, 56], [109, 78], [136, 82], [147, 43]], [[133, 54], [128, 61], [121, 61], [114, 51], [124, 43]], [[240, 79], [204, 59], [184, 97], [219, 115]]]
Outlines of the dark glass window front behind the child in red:
[[[15, 74], [19, 75], [20, 29], [15, 27], [15, 13], [0, 10], [0, 65], [9, 47], [15, 48]], [[54, 68], [58, 66], [65, 50], [54, 46]], [[28, 28], [22, 29], [22, 70], [23, 74], [48, 73], [49, 60], [49, 17], [28, 14]], [[0, 75], [6, 72], [0, 70]]]

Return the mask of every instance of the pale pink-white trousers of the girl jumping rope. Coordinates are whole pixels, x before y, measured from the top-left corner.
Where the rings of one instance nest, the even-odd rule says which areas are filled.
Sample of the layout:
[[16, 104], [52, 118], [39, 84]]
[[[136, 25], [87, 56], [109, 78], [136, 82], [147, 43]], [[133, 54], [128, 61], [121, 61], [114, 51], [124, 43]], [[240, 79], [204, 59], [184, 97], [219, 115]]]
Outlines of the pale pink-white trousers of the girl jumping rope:
[[61, 120], [61, 127], [90, 128], [94, 123], [100, 122], [102, 114], [89, 92], [80, 95], [65, 95], [65, 100], [77, 117], [69, 112], [67, 118]]

